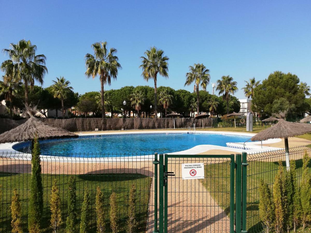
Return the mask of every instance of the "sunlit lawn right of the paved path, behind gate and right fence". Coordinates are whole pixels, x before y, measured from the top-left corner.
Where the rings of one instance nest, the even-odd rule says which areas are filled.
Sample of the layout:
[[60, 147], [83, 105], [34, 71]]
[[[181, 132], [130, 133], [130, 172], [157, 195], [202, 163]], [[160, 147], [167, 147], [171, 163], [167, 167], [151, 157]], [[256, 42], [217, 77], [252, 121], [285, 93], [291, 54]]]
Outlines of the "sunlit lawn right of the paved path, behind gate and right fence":
[[[278, 170], [277, 162], [250, 161], [247, 166], [247, 230], [262, 232], [259, 219], [259, 180], [263, 179], [272, 188], [274, 177]], [[283, 164], [285, 165], [285, 164]], [[223, 169], [224, 167], [227, 169]], [[298, 180], [301, 176], [302, 160], [296, 161]], [[311, 167], [310, 167], [311, 172]], [[211, 192], [212, 198], [223, 208], [225, 213], [230, 212], [230, 167], [229, 162], [208, 164], [205, 166], [205, 179], [202, 184]], [[235, 192], [235, 191], [234, 191]]]

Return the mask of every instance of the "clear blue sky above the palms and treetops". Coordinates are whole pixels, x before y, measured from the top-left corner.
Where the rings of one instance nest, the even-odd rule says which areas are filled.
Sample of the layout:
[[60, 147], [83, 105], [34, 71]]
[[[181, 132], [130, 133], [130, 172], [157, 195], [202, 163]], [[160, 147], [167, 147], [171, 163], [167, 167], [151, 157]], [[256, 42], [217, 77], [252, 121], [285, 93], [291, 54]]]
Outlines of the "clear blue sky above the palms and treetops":
[[[183, 84], [188, 66], [197, 62], [210, 70], [211, 83], [232, 76], [238, 98], [244, 98], [244, 80], [263, 80], [276, 70], [311, 85], [310, 1], [2, 0], [1, 8], [0, 48], [20, 39], [36, 44], [47, 57], [43, 87], [64, 76], [80, 94], [99, 91], [99, 79], [84, 75], [84, 55], [103, 40], [118, 49], [123, 67], [105, 89], [153, 86], [138, 68], [151, 46], [170, 58], [169, 79], [158, 77], [158, 86], [192, 91]], [[0, 54], [0, 62], [6, 59]]]

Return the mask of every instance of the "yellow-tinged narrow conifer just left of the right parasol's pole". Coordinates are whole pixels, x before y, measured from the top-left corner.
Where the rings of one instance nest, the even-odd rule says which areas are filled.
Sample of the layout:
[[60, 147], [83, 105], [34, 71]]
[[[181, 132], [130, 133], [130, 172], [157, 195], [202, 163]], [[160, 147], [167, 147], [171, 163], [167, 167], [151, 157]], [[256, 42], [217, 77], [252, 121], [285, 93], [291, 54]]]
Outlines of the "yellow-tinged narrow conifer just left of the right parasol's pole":
[[274, 203], [274, 227], [276, 233], [280, 233], [284, 228], [285, 217], [285, 179], [283, 174], [282, 161], [279, 161], [279, 171], [275, 176], [273, 185], [273, 203]]

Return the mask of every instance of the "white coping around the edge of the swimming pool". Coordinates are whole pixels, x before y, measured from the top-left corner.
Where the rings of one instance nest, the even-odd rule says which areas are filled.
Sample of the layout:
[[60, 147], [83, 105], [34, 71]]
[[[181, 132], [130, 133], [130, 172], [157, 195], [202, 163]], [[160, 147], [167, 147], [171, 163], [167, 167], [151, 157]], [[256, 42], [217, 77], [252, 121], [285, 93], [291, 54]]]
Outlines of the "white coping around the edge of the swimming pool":
[[[94, 135], [118, 135], [118, 134], [165, 134], [165, 133], [188, 133], [188, 130], [161, 130], [161, 131], [148, 131], [148, 132], [131, 132], [131, 131], [118, 131], [118, 132], [102, 132], [102, 133], [80, 133], [79, 136], [94, 136]], [[196, 134], [218, 134], [218, 135], [237, 135], [237, 136], [253, 136], [256, 135], [254, 133], [241, 133], [241, 132], [228, 132], [228, 131], [210, 131], [210, 130], [200, 130], [197, 131]], [[216, 146], [216, 145], [197, 145], [193, 148], [178, 151], [174, 153], [168, 154], [180, 154], [180, 155], [195, 155], [199, 153], [206, 152], [208, 150], [225, 150], [225, 151], [233, 151], [236, 153], [260, 153], [265, 151], [273, 151], [282, 148], [265, 146], [265, 144], [272, 144], [276, 142], [280, 142], [281, 139], [269, 139], [266, 141], [261, 142], [246, 142], [245, 149], [244, 149], [244, 142], [240, 143], [227, 143], [227, 147], [224, 146]], [[3, 143], [0, 144], [0, 155], [2, 157], [8, 158], [17, 158], [22, 160], [31, 160], [31, 154], [21, 153], [14, 150], [12, 147], [15, 144], [20, 142], [14, 143]], [[99, 158], [82, 158], [82, 157], [59, 157], [59, 156], [40, 156], [44, 161], [51, 161], [51, 162], [124, 162], [124, 161], [143, 161], [143, 160], [150, 160], [154, 158], [154, 155], [142, 155], [142, 156], [129, 156], [129, 157], [99, 157]]]

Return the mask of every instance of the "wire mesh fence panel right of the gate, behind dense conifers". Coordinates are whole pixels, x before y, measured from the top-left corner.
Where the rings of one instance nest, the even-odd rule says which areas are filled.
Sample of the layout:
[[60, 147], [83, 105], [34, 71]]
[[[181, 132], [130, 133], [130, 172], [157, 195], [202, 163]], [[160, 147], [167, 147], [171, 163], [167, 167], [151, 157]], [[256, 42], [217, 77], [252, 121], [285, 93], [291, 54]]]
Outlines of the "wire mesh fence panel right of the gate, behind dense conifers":
[[[296, 161], [296, 178], [300, 184], [302, 175], [302, 158], [307, 153], [310, 157], [311, 145], [292, 147], [289, 149], [290, 160]], [[265, 181], [273, 192], [273, 183], [278, 171], [278, 161], [282, 161], [286, 170], [285, 150], [267, 151], [247, 155], [247, 229], [248, 232], [262, 232], [259, 217], [259, 181]], [[310, 166], [310, 163], [309, 163]], [[310, 167], [311, 171], [311, 167]], [[285, 174], [285, 172], [284, 172]]]

